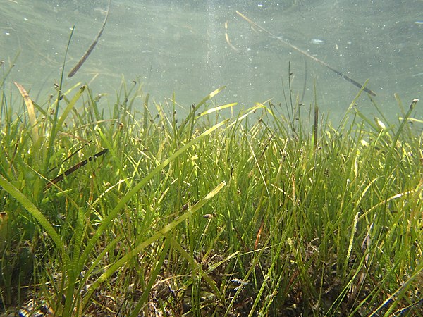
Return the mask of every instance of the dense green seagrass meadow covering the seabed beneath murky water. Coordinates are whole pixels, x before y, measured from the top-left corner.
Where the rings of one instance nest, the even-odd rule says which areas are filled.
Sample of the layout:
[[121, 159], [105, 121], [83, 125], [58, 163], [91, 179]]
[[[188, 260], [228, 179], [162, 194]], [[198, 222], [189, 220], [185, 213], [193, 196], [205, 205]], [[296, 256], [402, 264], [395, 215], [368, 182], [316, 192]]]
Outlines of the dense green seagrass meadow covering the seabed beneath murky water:
[[3, 70], [2, 316], [422, 316], [417, 99], [333, 125], [222, 87], [179, 118], [137, 81], [35, 101]]

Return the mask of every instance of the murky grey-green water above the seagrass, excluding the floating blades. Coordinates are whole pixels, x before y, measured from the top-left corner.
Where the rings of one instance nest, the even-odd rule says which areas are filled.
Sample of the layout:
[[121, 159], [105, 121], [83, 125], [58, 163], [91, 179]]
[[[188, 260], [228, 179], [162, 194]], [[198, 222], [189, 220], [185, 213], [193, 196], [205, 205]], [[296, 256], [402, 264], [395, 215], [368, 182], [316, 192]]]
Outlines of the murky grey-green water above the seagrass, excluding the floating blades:
[[[7, 66], [20, 51], [7, 85], [20, 82], [42, 104], [59, 81], [71, 27], [66, 73], [97, 35], [106, 6], [107, 0], [0, 0], [0, 60]], [[277, 37], [357, 82], [369, 79], [388, 116], [398, 112], [395, 92], [404, 104], [423, 99], [422, 0], [112, 0], [99, 44], [65, 85], [90, 82], [113, 102], [122, 76], [128, 82], [139, 78], [154, 100], [174, 94], [184, 107], [226, 85], [219, 103], [278, 104], [284, 100], [282, 82], [288, 91], [290, 63], [292, 89], [300, 98], [306, 78], [305, 105], [314, 99], [316, 82], [321, 110], [331, 118], [343, 113], [357, 87]], [[367, 96], [359, 106], [370, 107]]]

